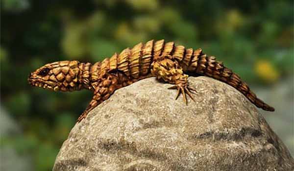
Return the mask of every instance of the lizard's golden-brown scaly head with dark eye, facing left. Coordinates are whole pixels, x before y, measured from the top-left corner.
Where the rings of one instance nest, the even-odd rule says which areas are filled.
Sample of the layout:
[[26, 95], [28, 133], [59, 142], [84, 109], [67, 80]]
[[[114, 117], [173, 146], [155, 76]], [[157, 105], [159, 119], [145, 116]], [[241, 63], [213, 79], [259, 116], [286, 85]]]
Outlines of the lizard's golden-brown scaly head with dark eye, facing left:
[[60, 61], [46, 64], [30, 73], [28, 82], [32, 86], [54, 91], [73, 91], [80, 89], [79, 62]]

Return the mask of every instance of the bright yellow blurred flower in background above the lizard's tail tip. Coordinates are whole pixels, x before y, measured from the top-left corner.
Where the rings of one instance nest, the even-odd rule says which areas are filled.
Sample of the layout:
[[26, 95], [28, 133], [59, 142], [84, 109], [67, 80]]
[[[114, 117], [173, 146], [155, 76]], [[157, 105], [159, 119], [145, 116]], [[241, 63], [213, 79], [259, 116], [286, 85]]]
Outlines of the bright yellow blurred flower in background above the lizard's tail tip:
[[255, 72], [267, 82], [276, 82], [280, 77], [277, 69], [267, 60], [259, 60], [255, 63]]

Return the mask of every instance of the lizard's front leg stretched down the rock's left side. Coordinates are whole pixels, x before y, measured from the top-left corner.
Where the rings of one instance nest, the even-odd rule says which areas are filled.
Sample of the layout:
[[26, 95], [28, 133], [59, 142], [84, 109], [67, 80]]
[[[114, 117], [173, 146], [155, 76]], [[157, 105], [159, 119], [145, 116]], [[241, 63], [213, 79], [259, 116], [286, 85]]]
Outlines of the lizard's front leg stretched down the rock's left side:
[[77, 122], [81, 122], [84, 118], [86, 118], [86, 116], [92, 109], [94, 109], [96, 106], [98, 106], [98, 104], [109, 98], [116, 89], [120, 88], [118, 77], [115, 74], [106, 74], [97, 82], [94, 82], [91, 85], [94, 89], [94, 96], [86, 110], [77, 119]]

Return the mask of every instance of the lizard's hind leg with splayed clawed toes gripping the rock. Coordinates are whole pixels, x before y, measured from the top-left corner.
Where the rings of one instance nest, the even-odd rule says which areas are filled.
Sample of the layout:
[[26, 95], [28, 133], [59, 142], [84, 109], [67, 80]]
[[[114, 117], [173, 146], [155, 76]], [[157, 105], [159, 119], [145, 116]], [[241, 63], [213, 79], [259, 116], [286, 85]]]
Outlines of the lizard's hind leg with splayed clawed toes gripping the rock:
[[191, 91], [196, 92], [196, 90], [189, 86], [187, 80], [188, 75], [183, 73], [181, 66], [175, 59], [172, 58], [171, 55], [165, 55], [154, 59], [151, 64], [151, 73], [158, 79], [163, 79], [170, 84], [175, 84], [169, 88], [177, 89], [175, 99], [177, 99], [180, 94], [183, 94], [184, 102], [187, 104], [187, 94], [193, 101], [195, 101], [192, 97]]

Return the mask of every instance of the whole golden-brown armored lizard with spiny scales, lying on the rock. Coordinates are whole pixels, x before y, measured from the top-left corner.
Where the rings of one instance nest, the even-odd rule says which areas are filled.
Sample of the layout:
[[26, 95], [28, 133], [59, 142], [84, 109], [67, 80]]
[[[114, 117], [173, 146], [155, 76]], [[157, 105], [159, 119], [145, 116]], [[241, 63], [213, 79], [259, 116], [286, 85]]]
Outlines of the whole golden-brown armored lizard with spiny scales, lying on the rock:
[[217, 62], [215, 57], [202, 53], [202, 49], [185, 49], [183, 46], [175, 46], [173, 42], [165, 43], [164, 40], [140, 43], [133, 49], [124, 49], [119, 55], [115, 53], [111, 58], [105, 58], [94, 65], [78, 61], [46, 64], [31, 73], [28, 81], [32, 86], [54, 91], [93, 91], [90, 104], [77, 120], [80, 122], [115, 90], [151, 76], [174, 84], [169, 89], [177, 89], [176, 98], [183, 94], [187, 103], [187, 94], [194, 100], [191, 91], [196, 90], [189, 87], [185, 72], [202, 74], [225, 82], [257, 107], [274, 111], [273, 107], [256, 98], [239, 75], [224, 67], [222, 62]]

